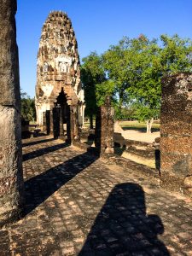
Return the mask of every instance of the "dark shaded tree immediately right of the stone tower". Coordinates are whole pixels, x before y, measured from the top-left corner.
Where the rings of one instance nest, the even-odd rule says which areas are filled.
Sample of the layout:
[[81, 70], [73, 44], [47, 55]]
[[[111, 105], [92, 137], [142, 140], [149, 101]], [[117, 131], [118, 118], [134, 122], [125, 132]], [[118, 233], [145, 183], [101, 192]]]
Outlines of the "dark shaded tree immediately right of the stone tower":
[[84, 88], [84, 100], [86, 104], [85, 115], [90, 118], [90, 129], [93, 129], [93, 116], [96, 114], [96, 84], [102, 84], [106, 80], [102, 67], [101, 56], [96, 52], [83, 58], [81, 65], [81, 80]]

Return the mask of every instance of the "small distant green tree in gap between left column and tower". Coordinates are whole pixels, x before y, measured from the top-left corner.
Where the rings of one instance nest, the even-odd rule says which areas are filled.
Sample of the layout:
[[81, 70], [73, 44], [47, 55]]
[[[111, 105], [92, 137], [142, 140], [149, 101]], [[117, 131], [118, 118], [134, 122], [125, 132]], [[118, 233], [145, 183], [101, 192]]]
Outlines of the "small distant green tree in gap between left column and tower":
[[21, 118], [26, 121], [34, 121], [36, 119], [35, 100], [21, 92]]

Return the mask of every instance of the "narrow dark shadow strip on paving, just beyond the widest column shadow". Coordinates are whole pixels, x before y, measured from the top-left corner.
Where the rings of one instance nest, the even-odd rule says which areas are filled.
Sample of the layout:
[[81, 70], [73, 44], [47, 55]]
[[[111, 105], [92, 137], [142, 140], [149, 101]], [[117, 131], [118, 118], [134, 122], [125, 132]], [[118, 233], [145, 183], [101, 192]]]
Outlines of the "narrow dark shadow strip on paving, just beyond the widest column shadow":
[[69, 144], [67, 144], [67, 143], [61, 143], [61, 144], [57, 144], [57, 145], [50, 146], [47, 148], [41, 148], [41, 149], [32, 151], [30, 153], [23, 154], [23, 161], [30, 160], [30, 159], [36, 158], [36, 157], [44, 155], [44, 154], [49, 154], [49, 153], [59, 150], [61, 148], [66, 148], [66, 147], [68, 147], [68, 145]]

